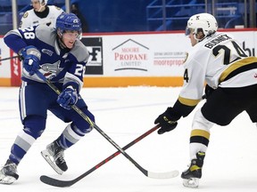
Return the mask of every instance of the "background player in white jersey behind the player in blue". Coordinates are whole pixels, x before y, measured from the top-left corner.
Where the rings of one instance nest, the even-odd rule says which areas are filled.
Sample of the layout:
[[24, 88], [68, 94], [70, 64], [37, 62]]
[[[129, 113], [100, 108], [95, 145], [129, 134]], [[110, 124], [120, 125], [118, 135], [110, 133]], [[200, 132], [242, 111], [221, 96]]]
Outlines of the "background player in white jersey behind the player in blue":
[[29, 28], [38, 24], [55, 27], [57, 17], [63, 10], [54, 5], [47, 5], [47, 0], [31, 0], [33, 9], [25, 12], [21, 18], [20, 28]]

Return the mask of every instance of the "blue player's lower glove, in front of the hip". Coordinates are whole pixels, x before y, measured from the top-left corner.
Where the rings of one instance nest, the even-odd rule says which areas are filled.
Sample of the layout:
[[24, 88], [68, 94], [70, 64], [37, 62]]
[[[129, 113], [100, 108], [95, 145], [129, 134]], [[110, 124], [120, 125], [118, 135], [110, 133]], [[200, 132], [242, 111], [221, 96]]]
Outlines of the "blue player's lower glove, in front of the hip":
[[75, 105], [78, 101], [78, 93], [73, 87], [68, 86], [58, 96], [57, 103], [62, 107], [69, 109], [72, 105]]

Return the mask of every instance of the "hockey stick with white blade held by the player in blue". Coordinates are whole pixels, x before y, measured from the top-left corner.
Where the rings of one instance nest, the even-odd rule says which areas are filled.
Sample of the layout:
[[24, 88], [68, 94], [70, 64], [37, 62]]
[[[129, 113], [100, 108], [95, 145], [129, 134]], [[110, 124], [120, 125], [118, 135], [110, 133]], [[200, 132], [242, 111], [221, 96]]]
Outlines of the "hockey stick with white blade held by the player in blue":
[[[41, 78], [48, 86], [50, 86], [51, 89], [54, 90], [58, 95], [61, 93], [61, 91], [53, 84], [51, 83], [48, 79], [46, 79], [46, 76], [41, 74], [39, 71], [37, 71], [37, 76]], [[174, 176], [176, 177], [178, 175], [178, 171], [172, 172], [149, 172], [145, 170], [140, 164], [137, 164], [137, 162], [127, 154], [124, 149], [120, 148], [118, 144], [116, 144], [105, 132], [103, 132], [100, 127], [98, 127], [91, 119], [83, 113], [76, 105], [71, 106], [72, 109], [74, 109], [79, 116], [81, 116], [84, 120], [87, 121], [88, 124], [93, 126], [97, 132], [99, 132], [106, 140], [108, 140], [114, 148], [117, 148], [120, 153], [122, 153], [123, 156], [127, 157], [129, 161], [134, 164], [139, 171], [145, 174], [146, 177], [153, 178], [153, 179], [168, 179], [168, 178], [173, 178]]]

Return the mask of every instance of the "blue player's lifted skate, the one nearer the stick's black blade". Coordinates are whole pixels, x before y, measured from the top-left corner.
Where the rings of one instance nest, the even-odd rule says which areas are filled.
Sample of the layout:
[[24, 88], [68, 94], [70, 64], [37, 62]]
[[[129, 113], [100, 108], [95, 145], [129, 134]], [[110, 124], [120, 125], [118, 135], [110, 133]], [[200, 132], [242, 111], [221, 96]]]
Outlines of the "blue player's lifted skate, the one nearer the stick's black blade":
[[47, 145], [46, 150], [41, 151], [41, 155], [58, 174], [62, 174], [68, 170], [68, 166], [64, 160], [64, 149], [59, 146], [57, 141]]

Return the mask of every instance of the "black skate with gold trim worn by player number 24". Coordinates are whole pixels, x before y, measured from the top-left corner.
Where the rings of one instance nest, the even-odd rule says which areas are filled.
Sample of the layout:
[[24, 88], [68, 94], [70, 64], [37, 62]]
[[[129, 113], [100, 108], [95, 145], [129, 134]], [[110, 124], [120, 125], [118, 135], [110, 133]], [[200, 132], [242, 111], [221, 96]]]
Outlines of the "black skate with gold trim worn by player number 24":
[[192, 159], [189, 168], [185, 172], [182, 172], [181, 178], [183, 179], [183, 185], [185, 187], [197, 188], [199, 186], [199, 179], [202, 177], [204, 156], [204, 152], [198, 152], [196, 159]]

